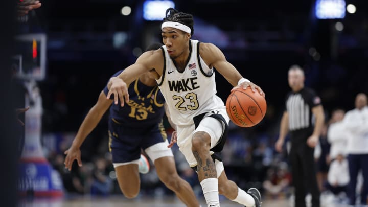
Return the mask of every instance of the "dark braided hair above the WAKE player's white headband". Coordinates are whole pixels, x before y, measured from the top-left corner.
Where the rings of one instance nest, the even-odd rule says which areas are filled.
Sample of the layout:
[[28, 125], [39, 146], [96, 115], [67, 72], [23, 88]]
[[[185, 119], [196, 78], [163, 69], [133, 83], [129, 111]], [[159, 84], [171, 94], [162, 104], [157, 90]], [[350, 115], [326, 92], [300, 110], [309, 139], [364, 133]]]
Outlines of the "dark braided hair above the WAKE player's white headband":
[[[168, 15], [168, 13], [170, 13]], [[194, 20], [193, 20], [193, 15], [192, 14], [188, 14], [188, 13], [184, 13], [184, 12], [179, 12], [178, 10], [174, 9], [174, 8], [169, 8], [166, 10], [166, 17], [164, 17], [164, 22], [165, 21], [176, 21], [176, 22], [180, 22], [183, 25], [188, 26], [191, 29], [191, 35], [194, 34]]]

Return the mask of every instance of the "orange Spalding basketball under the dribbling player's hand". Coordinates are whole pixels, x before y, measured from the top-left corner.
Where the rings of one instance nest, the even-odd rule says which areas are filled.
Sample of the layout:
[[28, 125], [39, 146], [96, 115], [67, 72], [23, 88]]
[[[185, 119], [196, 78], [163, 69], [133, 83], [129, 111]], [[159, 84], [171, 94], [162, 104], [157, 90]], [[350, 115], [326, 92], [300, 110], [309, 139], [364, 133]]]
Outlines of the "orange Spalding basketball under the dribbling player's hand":
[[226, 100], [226, 112], [230, 120], [240, 127], [251, 127], [260, 123], [266, 109], [266, 99], [258, 91], [253, 93], [249, 87], [246, 90], [234, 90]]

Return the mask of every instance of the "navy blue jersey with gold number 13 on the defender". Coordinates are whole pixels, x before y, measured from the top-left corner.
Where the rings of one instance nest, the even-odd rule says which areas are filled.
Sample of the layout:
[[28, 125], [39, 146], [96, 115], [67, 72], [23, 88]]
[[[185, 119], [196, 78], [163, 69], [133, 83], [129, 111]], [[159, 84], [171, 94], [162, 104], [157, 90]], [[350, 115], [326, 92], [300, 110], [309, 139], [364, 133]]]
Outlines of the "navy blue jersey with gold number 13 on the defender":
[[[118, 76], [119, 71], [112, 77]], [[107, 95], [107, 85], [104, 88]], [[162, 121], [165, 113], [164, 96], [158, 86], [147, 86], [139, 79], [133, 81], [128, 87], [129, 102], [124, 107], [112, 103], [110, 106], [110, 118], [123, 127], [149, 127]], [[110, 97], [113, 99], [113, 95]]]

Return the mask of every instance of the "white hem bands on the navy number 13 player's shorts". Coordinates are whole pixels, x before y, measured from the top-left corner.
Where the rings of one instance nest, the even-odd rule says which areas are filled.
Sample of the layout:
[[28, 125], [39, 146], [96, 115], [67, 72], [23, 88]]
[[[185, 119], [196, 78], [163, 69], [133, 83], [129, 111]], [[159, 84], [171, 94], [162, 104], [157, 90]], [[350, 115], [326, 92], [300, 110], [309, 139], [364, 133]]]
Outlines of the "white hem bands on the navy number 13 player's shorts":
[[[157, 144], [152, 145], [151, 147], [148, 147], [145, 152], [147, 153], [148, 157], [152, 160], [152, 163], [155, 162], [156, 159], [166, 156], [174, 156], [171, 148], [168, 148], [169, 145], [168, 140], [165, 140], [164, 142], [160, 142]], [[128, 164], [137, 164], [139, 163], [140, 159], [136, 159], [130, 162], [126, 163], [113, 163], [114, 168], [122, 165], [128, 165]]]

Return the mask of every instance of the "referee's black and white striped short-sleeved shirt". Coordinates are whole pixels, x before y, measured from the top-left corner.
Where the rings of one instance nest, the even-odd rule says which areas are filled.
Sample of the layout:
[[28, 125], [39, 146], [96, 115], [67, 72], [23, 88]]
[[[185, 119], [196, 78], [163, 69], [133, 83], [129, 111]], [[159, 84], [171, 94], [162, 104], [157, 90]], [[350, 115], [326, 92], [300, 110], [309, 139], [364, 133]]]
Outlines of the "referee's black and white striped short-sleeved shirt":
[[305, 129], [314, 125], [312, 108], [321, 104], [314, 90], [304, 87], [298, 92], [291, 91], [286, 97], [289, 114], [289, 130]]

